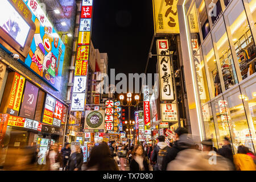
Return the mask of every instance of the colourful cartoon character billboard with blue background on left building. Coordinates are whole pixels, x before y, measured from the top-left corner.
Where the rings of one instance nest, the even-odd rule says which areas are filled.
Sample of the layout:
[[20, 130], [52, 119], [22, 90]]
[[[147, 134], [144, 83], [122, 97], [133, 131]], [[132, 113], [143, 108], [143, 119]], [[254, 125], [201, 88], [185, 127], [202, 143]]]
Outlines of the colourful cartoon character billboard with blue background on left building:
[[[23, 64], [53, 89], [60, 90], [65, 46], [59, 38], [53, 37], [56, 31], [47, 18], [42, 19], [46, 16], [40, 6], [37, 6], [37, 9], [32, 9], [30, 1], [27, 2], [27, 6], [31, 10], [36, 30], [30, 52]], [[35, 2], [35, 0], [33, 1]]]

